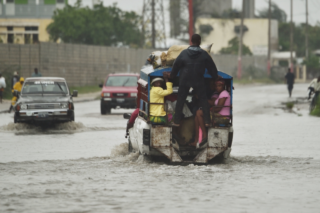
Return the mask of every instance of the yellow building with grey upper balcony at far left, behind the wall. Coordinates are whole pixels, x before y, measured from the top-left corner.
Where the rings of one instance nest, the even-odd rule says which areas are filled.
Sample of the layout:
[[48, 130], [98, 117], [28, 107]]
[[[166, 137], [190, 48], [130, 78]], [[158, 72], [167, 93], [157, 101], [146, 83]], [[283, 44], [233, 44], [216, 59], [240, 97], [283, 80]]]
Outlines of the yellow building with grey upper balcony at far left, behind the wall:
[[48, 42], [53, 12], [67, 0], [0, 0], [0, 43]]

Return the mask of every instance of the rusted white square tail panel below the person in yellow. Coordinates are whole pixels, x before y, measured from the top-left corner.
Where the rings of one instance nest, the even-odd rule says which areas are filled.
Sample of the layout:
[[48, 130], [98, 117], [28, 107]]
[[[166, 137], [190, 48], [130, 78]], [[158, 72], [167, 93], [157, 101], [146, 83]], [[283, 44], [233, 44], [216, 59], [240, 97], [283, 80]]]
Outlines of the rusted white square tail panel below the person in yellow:
[[170, 147], [171, 127], [152, 126], [151, 147]]

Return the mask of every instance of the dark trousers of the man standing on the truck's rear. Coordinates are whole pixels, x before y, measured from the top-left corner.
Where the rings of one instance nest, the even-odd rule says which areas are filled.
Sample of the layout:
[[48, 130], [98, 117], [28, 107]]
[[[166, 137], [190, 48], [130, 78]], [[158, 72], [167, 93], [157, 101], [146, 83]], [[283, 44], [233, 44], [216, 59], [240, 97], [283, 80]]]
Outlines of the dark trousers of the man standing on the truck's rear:
[[179, 85], [178, 98], [177, 98], [176, 109], [174, 114], [174, 123], [180, 124], [180, 120], [183, 115], [182, 109], [187, 99], [187, 96], [189, 94], [190, 87], [194, 89], [195, 94], [199, 98], [200, 106], [202, 107], [202, 111], [203, 111], [204, 123], [210, 124], [211, 123], [210, 108], [209, 108], [208, 99], [205, 93], [204, 82], [202, 82], [202, 84], [199, 84], [199, 85], [193, 85], [193, 84], [191, 85], [188, 83], [184, 85]]

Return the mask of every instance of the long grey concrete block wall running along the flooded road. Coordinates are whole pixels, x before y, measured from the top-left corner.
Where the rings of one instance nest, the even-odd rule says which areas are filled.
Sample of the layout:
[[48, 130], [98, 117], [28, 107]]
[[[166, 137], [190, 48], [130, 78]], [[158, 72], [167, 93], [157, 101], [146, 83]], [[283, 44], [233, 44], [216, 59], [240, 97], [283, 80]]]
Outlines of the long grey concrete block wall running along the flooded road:
[[[0, 72], [30, 77], [37, 67], [43, 76], [63, 77], [70, 86], [98, 85], [112, 72], [137, 72], [152, 49], [127, 49], [80, 44], [0, 44]], [[217, 68], [236, 76], [236, 55], [212, 55]], [[266, 76], [267, 57], [244, 56], [243, 77]]]

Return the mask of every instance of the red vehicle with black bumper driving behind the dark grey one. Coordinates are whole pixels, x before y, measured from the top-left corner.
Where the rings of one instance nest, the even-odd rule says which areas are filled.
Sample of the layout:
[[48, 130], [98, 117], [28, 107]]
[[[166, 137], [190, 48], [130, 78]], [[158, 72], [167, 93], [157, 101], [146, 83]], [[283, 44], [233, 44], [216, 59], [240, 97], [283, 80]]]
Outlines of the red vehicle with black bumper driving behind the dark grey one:
[[136, 96], [138, 93], [137, 81], [140, 75], [137, 73], [109, 74], [100, 84], [101, 91], [101, 114], [110, 114], [111, 108], [136, 108]]

